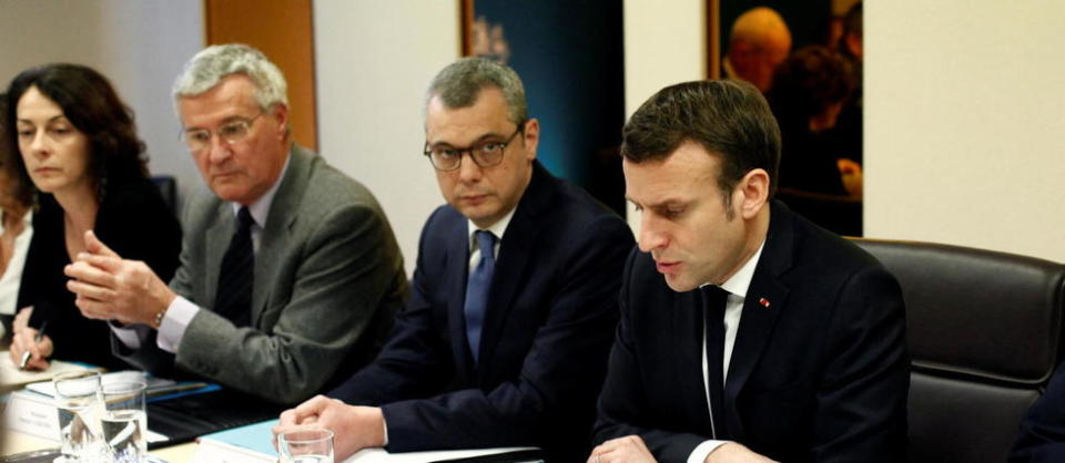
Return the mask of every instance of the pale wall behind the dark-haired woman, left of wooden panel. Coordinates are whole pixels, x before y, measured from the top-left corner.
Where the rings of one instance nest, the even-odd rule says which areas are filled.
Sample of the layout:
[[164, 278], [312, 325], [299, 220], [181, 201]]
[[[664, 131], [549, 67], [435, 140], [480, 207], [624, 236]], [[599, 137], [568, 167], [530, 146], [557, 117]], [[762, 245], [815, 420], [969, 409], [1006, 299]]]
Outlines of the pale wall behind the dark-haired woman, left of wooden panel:
[[100, 71], [133, 109], [151, 171], [189, 192], [202, 181], [178, 140], [170, 86], [202, 47], [202, 17], [196, 1], [0, 0], [0, 88], [50, 62]]

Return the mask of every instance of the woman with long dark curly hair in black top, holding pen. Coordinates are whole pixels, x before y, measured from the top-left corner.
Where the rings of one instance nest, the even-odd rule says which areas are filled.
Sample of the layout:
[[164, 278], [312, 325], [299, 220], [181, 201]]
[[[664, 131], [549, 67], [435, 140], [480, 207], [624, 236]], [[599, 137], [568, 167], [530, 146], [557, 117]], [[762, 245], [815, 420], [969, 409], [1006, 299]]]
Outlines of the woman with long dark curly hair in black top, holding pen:
[[12, 360], [18, 364], [28, 351], [30, 369], [47, 368], [48, 358], [122, 368], [111, 354], [110, 328], [81, 316], [63, 267], [85, 250], [89, 230], [163, 279], [178, 267], [181, 228], [148, 177], [132, 112], [106, 78], [77, 64], [23, 71], [7, 103], [4, 140], [20, 154], [7, 164], [37, 207]]

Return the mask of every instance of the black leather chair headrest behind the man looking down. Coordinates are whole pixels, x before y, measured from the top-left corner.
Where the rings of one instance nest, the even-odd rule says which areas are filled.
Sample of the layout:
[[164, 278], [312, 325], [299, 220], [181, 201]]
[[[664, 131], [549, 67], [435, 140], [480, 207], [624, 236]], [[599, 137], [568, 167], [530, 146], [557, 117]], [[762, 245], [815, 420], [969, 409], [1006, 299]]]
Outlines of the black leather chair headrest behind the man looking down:
[[855, 239], [902, 286], [916, 370], [1046, 381], [1059, 361], [1065, 266], [960, 246]]

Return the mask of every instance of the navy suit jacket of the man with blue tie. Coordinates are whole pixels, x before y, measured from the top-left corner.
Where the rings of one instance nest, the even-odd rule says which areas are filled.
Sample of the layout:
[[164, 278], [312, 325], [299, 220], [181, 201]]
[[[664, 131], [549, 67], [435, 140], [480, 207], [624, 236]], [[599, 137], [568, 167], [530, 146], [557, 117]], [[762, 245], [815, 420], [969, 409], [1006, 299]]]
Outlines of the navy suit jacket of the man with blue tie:
[[582, 461], [632, 243], [620, 217], [534, 163], [500, 243], [475, 364], [467, 219], [442, 206], [388, 343], [331, 395], [383, 405], [389, 451], [535, 445]]

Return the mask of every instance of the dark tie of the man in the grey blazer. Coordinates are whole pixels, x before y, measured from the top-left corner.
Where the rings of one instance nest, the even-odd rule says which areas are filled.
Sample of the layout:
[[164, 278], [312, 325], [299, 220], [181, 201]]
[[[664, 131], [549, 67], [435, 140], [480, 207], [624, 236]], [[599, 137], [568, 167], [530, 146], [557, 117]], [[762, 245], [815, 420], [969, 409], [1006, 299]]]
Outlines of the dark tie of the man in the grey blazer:
[[236, 214], [236, 233], [222, 257], [219, 289], [214, 298], [214, 311], [239, 327], [247, 326], [252, 318], [252, 284], [255, 281], [255, 250], [252, 247], [254, 223], [247, 206], [241, 207]]

